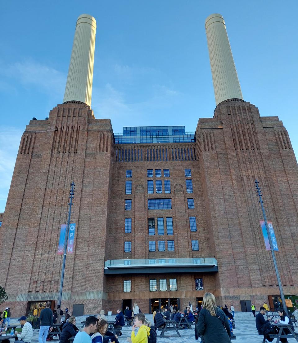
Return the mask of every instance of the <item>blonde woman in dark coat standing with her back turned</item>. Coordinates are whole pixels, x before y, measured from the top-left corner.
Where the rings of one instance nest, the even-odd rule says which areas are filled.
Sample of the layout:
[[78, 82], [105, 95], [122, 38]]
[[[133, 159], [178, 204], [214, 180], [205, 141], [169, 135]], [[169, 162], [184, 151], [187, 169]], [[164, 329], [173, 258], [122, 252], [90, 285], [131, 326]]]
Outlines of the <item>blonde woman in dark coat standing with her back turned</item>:
[[215, 297], [212, 293], [205, 293], [203, 308], [200, 311], [197, 330], [202, 336], [204, 343], [231, 343], [231, 330], [227, 316], [223, 310], [215, 305]]

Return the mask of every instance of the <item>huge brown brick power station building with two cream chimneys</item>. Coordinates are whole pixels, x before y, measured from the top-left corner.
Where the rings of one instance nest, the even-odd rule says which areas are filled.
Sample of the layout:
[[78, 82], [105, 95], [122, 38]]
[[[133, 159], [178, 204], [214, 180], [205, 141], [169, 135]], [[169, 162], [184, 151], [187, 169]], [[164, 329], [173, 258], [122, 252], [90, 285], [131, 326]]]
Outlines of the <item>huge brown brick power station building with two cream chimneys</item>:
[[[80, 16], [75, 40], [88, 25], [96, 29], [92, 17]], [[48, 120], [30, 120], [0, 214], [1, 285], [12, 316], [58, 299], [57, 247], [72, 181], [75, 247], [67, 255], [62, 297], [71, 313], [79, 313], [79, 305], [84, 314], [115, 312], [134, 302], [145, 313], [170, 303], [196, 307], [206, 291], [236, 310], [241, 300], [273, 307], [279, 290], [255, 179], [278, 240], [284, 292], [298, 294], [298, 175], [288, 133], [278, 117], [261, 117], [242, 99], [232, 67], [226, 84], [216, 83], [214, 51], [227, 65], [234, 62], [220, 55], [225, 38], [214, 42], [213, 35], [211, 42], [209, 29], [225, 33], [222, 17], [206, 20], [217, 107], [213, 118], [198, 120], [194, 133], [129, 127], [114, 135], [110, 119], [95, 119], [88, 92], [82, 99], [69, 91], [71, 82], [84, 83], [82, 75], [69, 81], [77, 70], [72, 62], [64, 103]], [[92, 44], [87, 52], [92, 57]], [[75, 48], [71, 61], [74, 54]], [[92, 64], [84, 84], [90, 90], [93, 60], [85, 57], [78, 63]]]

